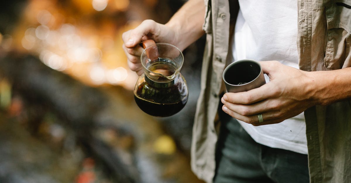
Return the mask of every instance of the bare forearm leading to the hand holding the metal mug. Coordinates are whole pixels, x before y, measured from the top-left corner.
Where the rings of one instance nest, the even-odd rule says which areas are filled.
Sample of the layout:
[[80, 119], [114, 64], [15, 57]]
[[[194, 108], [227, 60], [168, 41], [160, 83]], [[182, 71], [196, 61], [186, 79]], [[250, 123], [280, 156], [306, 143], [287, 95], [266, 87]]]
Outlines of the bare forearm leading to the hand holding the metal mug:
[[311, 97], [316, 104], [328, 105], [351, 99], [351, 68], [309, 72]]

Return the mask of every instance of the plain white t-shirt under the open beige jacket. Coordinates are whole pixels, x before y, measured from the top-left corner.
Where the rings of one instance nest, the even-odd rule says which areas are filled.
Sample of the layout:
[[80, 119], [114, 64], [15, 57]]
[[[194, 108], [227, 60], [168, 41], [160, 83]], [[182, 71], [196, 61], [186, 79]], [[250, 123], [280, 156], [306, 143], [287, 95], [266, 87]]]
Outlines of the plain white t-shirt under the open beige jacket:
[[[298, 68], [297, 0], [239, 0], [239, 4], [232, 61], [277, 60]], [[266, 81], [269, 82], [267, 76]], [[260, 144], [307, 154], [303, 113], [278, 124], [254, 127], [242, 121], [239, 123]]]

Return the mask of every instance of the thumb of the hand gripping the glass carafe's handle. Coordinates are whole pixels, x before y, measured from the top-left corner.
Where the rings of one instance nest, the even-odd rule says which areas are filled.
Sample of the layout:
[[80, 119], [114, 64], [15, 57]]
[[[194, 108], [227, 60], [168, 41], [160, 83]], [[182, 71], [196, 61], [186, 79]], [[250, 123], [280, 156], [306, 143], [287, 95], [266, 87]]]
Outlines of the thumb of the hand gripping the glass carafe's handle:
[[141, 39], [149, 34], [155, 34], [157, 23], [153, 20], [144, 20], [141, 24], [129, 31], [129, 35], [123, 39], [127, 48], [133, 48], [141, 43]]

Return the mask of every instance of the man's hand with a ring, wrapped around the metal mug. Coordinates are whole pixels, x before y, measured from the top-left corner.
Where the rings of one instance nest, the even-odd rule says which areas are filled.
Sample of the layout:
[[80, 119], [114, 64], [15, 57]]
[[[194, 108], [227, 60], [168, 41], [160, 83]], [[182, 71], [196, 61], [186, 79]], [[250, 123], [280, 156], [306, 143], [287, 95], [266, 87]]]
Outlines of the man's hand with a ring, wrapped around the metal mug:
[[[302, 113], [317, 102], [311, 72], [285, 66], [278, 61], [260, 62], [270, 82], [240, 93], [226, 93], [221, 101], [225, 113], [254, 126], [280, 123]], [[258, 114], [263, 122], [259, 123]]]

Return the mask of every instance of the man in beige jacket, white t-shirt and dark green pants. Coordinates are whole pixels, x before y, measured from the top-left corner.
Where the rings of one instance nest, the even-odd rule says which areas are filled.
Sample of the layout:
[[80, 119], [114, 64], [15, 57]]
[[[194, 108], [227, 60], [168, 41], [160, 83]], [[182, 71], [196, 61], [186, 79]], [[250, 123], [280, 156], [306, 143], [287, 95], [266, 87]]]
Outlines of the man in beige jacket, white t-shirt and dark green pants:
[[[269, 33], [267, 29], [263, 31], [265, 34], [258, 34], [261, 33], [262, 27], [275, 28], [274, 24], [269, 24], [271, 15], [280, 26], [284, 27], [282, 23], [286, 21], [285, 16], [280, 16], [287, 13], [285, 10], [279, 12], [279, 9], [273, 9], [275, 13], [265, 11], [280, 2], [274, 1], [276, 4], [271, 4], [272, 2], [265, 1], [265, 3], [267, 4], [258, 6], [257, 1], [239, 0], [238, 3], [232, 0], [205, 0], [204, 5], [203, 0], [189, 0], [165, 25], [146, 20], [137, 28], [123, 34], [125, 42], [123, 47], [128, 57], [128, 65], [138, 74], [143, 72], [139, 60], [142, 48], [138, 46], [141, 41], [153, 39], [156, 42], [171, 43], [183, 50], [206, 33], [207, 43], [201, 74], [201, 93], [193, 128], [191, 160], [193, 171], [206, 182], [305, 181], [305, 179], [298, 179], [299, 175], [305, 174], [305, 170], [298, 171], [305, 169], [303, 168], [306, 164], [305, 160], [295, 162], [299, 160], [299, 156], [304, 156], [306, 150], [303, 147], [304, 138], [301, 138], [300, 133], [291, 130], [291, 133], [299, 137], [296, 138], [297, 141], [295, 138], [291, 139], [288, 134], [290, 130], [286, 130], [295, 128], [295, 124], [303, 124], [293, 120], [301, 116], [303, 111], [306, 122], [310, 182], [350, 182], [351, 2], [346, 0], [336, 3], [323, 0], [297, 1], [295, 7], [297, 31], [294, 33], [297, 54], [294, 50], [288, 50], [288, 52], [296, 56], [299, 69], [289, 64], [284, 65], [285, 61], [278, 60], [286, 59], [281, 56], [284, 55], [282, 54], [284, 51], [279, 49], [277, 54], [270, 53], [266, 57], [257, 56], [262, 53], [260, 50], [276, 43], [267, 39], [267, 45], [257, 44], [269, 38], [266, 37], [267, 32]], [[238, 4], [240, 4], [239, 14], [236, 11]], [[292, 9], [288, 9], [288, 12], [286, 16], [294, 16]], [[250, 14], [265, 21], [251, 23], [255, 16], [252, 15], [253, 18], [250, 18]], [[282, 18], [282, 22], [279, 22], [276, 15]], [[238, 20], [236, 25], [235, 20]], [[240, 26], [240, 22], [243, 25], [247, 24], [246, 29], [245, 26]], [[244, 38], [240, 36], [240, 28], [244, 28], [244, 32], [241, 32], [244, 33]], [[284, 29], [281, 30], [276, 34], [278, 37], [288, 34]], [[240, 40], [240, 38], [243, 39]], [[243, 53], [243, 48], [240, 46], [244, 43], [251, 43], [251, 47], [246, 45], [246, 53], [240, 55]], [[270, 82], [247, 92], [226, 93], [220, 99], [223, 91], [221, 76], [227, 62], [251, 56], [250, 53], [256, 54], [259, 59], [278, 60], [265, 62], [259, 60]], [[278, 59], [275, 59], [275, 56]], [[286, 60], [290, 62], [294, 59]], [[219, 111], [221, 130], [218, 137], [214, 120], [219, 100], [224, 104], [223, 111], [233, 118], [227, 118]], [[259, 118], [259, 115], [263, 119]], [[240, 126], [234, 118], [239, 121]], [[293, 121], [289, 122], [291, 119]], [[277, 130], [274, 131], [276, 127]], [[240, 130], [241, 128], [245, 130]], [[264, 134], [267, 129], [270, 131], [273, 129], [274, 134]], [[304, 126], [296, 129], [302, 130]], [[233, 130], [237, 130], [235, 133], [240, 134], [236, 135]], [[255, 137], [256, 132], [259, 134], [257, 137]], [[233, 134], [236, 136], [228, 136]], [[273, 144], [265, 144], [270, 143], [269, 141], [261, 142], [261, 137], [265, 135], [277, 137], [276, 142]], [[237, 142], [241, 137], [243, 141]], [[251, 137], [254, 141], [250, 141]], [[285, 138], [284, 143], [279, 143], [281, 138]], [[233, 139], [236, 141], [232, 141]], [[237, 145], [231, 147], [232, 142]], [[241, 142], [244, 143], [240, 145]], [[250, 154], [240, 154], [250, 150], [245, 147], [247, 143], [250, 143], [250, 147], [251, 145], [259, 147], [260, 155], [265, 159], [261, 159], [257, 154], [253, 156], [256, 153], [255, 149], [251, 149]], [[301, 144], [301, 148], [295, 148], [294, 145], [285, 146], [290, 143]], [[242, 147], [246, 149], [243, 150]], [[246, 159], [239, 163], [225, 164], [225, 162], [238, 161], [240, 158]], [[273, 161], [267, 163], [266, 159]], [[237, 167], [241, 163], [243, 165]], [[276, 166], [277, 164], [279, 166], [284, 164], [284, 168], [280, 169]], [[255, 170], [251, 169], [252, 167]], [[273, 167], [273, 173], [267, 170], [268, 167]], [[289, 172], [291, 167], [295, 168]], [[258, 173], [251, 177], [251, 172]], [[275, 174], [280, 176], [274, 176]], [[287, 176], [284, 177], [284, 174]], [[294, 174], [296, 177], [291, 178]]]

